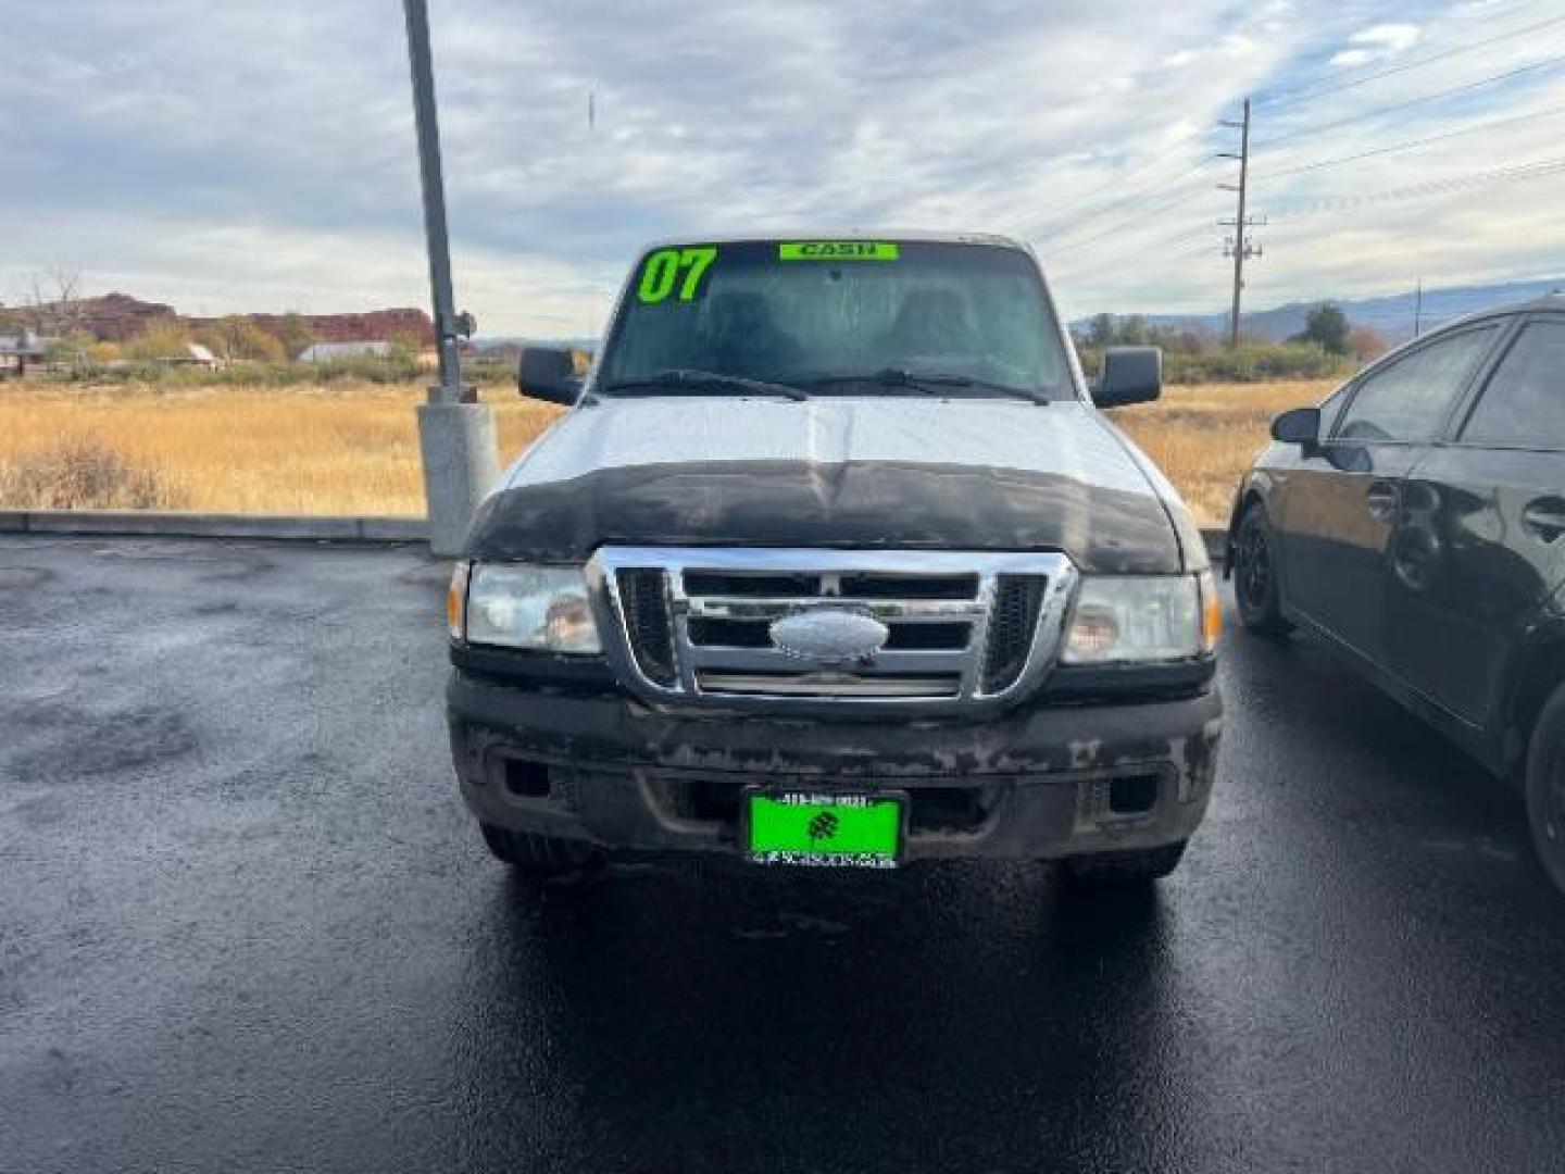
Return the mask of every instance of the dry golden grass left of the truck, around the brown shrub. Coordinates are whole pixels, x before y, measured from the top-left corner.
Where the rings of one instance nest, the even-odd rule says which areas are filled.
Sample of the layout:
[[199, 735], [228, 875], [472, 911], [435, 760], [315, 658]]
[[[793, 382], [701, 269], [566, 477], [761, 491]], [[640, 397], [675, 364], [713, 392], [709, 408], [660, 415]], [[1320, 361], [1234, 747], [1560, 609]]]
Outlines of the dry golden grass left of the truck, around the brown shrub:
[[[515, 391], [491, 388], [487, 396], [498, 409], [502, 460], [557, 412]], [[11, 492], [16, 470], [100, 440], [127, 466], [166, 477], [183, 509], [419, 515], [413, 407], [423, 401], [423, 387], [372, 384], [283, 391], [0, 384], [0, 506], [41, 504]]]

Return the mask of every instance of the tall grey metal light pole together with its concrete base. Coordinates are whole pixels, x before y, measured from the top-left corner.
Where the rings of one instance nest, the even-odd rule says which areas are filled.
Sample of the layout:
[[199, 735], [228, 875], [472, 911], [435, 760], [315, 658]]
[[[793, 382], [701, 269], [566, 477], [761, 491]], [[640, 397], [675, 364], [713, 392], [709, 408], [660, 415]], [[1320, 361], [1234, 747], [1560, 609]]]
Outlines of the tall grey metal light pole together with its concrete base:
[[418, 169], [424, 191], [424, 239], [435, 310], [440, 382], [418, 409], [418, 446], [424, 462], [430, 554], [462, 553], [474, 507], [499, 476], [495, 416], [462, 382], [459, 337], [473, 333], [473, 319], [455, 313], [451, 293], [451, 243], [446, 236], [446, 188], [440, 174], [440, 124], [435, 117], [435, 70], [429, 52], [426, 0], [402, 0], [407, 55], [413, 74], [413, 117], [418, 125]]

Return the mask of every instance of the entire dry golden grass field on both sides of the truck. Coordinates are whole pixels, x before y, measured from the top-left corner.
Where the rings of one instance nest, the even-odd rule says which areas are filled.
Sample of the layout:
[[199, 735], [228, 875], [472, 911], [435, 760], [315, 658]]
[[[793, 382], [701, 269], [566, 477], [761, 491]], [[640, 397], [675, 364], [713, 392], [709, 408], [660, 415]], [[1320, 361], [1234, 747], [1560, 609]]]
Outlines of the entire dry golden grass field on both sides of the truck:
[[[1271, 418], [1330, 384], [1175, 387], [1116, 412], [1202, 521], [1222, 521]], [[485, 388], [509, 462], [557, 409]], [[89, 388], [0, 384], [0, 507], [423, 513], [423, 387]]]

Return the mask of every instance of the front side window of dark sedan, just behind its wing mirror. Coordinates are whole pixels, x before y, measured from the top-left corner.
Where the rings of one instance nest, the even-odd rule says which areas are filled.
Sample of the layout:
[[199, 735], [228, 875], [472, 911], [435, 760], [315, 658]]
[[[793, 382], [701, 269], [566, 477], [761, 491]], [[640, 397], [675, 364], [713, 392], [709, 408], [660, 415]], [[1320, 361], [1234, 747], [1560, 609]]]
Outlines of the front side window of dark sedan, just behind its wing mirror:
[[1485, 326], [1441, 338], [1368, 376], [1335, 438], [1368, 445], [1432, 440], [1498, 329]]

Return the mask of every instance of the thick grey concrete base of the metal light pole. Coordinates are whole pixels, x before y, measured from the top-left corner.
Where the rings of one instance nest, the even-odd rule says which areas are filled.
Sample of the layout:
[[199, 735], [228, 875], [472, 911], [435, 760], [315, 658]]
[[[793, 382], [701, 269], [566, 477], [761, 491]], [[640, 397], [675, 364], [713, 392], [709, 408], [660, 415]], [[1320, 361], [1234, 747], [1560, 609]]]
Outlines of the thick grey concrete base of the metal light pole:
[[429, 553], [462, 553], [473, 510], [499, 479], [495, 412], [485, 404], [419, 404], [418, 448], [424, 457]]

